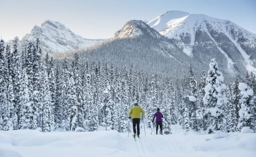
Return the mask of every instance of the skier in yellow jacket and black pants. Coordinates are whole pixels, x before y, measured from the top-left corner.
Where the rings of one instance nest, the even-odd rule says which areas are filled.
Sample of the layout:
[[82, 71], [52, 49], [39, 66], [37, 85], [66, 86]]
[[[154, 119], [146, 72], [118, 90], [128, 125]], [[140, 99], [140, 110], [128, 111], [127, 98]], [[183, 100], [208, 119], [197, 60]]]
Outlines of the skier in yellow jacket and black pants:
[[137, 136], [140, 137], [140, 113], [145, 114], [145, 111], [138, 106], [138, 103], [134, 103], [134, 107], [132, 107], [129, 111], [129, 119], [131, 119], [132, 115], [132, 127], [133, 127], [133, 137], [136, 137], [136, 125], [137, 125]]

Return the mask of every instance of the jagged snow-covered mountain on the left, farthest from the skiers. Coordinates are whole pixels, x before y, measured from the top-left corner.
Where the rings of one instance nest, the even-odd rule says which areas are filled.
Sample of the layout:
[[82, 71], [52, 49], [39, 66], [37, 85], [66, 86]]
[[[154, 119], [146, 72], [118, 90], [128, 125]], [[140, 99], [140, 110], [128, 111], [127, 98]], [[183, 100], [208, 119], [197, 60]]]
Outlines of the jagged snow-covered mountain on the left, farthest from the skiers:
[[64, 24], [52, 20], [46, 20], [41, 26], [34, 26], [31, 32], [20, 40], [20, 46], [24, 48], [28, 41], [34, 42], [36, 38], [39, 38], [43, 52], [50, 54], [78, 50], [103, 41], [78, 36]]

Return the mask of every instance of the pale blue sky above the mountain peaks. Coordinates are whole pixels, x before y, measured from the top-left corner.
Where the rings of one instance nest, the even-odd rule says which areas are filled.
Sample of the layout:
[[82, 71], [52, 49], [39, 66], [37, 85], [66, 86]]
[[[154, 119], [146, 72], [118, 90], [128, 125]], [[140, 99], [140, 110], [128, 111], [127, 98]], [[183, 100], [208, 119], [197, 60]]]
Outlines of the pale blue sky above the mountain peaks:
[[256, 0], [0, 0], [0, 36], [22, 38], [44, 20], [84, 38], [111, 38], [128, 20], [152, 20], [168, 10], [231, 20], [256, 33]]

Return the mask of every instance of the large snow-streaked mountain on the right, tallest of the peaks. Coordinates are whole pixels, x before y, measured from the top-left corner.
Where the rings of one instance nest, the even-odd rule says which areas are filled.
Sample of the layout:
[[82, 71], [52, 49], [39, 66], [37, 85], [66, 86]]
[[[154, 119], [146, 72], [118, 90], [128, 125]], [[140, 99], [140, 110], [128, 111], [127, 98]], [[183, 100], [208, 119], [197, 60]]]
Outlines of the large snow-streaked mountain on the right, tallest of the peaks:
[[223, 56], [230, 72], [256, 72], [256, 34], [204, 14], [168, 11], [147, 23], [190, 57]]

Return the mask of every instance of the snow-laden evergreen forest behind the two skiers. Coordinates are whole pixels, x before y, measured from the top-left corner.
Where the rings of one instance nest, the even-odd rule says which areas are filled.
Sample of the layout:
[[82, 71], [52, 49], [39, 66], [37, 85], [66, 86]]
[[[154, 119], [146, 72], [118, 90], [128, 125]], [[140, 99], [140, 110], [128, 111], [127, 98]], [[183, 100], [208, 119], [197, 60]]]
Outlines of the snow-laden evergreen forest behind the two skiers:
[[[164, 132], [172, 124], [186, 131], [240, 131], [256, 126], [256, 79], [246, 84], [239, 77], [224, 85], [215, 60], [208, 74], [195, 79], [148, 75], [133, 66], [114, 67], [110, 62], [42, 58], [39, 40], [18, 52], [17, 41], [4, 48], [0, 42], [0, 130], [128, 131], [128, 110], [135, 103], [146, 111], [144, 121], [153, 128], [152, 116], [159, 107]], [[239, 87], [239, 89], [238, 89]]]

